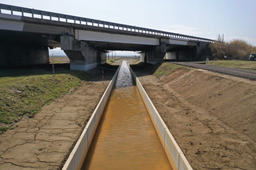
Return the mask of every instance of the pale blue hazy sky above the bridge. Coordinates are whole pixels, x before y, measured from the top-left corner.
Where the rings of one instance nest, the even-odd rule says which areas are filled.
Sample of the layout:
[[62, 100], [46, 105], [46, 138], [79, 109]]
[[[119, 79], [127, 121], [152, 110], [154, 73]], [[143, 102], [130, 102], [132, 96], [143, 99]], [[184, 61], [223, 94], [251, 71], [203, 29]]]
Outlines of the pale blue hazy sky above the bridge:
[[[256, 0], [0, 0], [0, 3], [256, 45]], [[55, 49], [58, 51], [59, 49]]]

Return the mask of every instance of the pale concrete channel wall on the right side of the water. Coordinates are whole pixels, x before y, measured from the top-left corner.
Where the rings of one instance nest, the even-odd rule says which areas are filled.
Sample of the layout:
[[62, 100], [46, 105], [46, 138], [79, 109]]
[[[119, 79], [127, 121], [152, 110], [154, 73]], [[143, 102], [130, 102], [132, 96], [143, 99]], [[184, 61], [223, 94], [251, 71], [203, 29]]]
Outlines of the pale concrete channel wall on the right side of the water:
[[166, 124], [163, 122], [163, 119], [161, 118], [157, 109], [154, 107], [151, 99], [148, 97], [148, 94], [145, 92], [143, 86], [141, 85], [139, 79], [136, 77], [129, 64], [128, 67], [131, 71], [131, 75], [134, 78], [134, 81], [136, 82], [137, 88], [140, 91], [140, 95], [142, 96], [142, 99], [145, 103], [145, 106], [148, 110], [148, 113], [151, 117], [151, 120], [154, 124], [154, 127], [157, 131], [157, 134], [173, 170], [192, 170], [192, 167], [190, 166], [183, 152], [180, 150], [180, 147], [173, 138]]

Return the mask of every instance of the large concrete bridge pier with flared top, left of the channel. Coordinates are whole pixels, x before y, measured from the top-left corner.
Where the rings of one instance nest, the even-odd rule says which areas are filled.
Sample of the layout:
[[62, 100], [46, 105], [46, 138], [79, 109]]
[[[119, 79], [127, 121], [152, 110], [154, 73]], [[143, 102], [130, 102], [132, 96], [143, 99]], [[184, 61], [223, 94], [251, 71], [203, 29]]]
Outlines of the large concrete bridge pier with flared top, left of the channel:
[[61, 36], [61, 49], [70, 59], [70, 70], [87, 71], [105, 63], [104, 52], [89, 47], [84, 41], [74, 40], [71, 36]]

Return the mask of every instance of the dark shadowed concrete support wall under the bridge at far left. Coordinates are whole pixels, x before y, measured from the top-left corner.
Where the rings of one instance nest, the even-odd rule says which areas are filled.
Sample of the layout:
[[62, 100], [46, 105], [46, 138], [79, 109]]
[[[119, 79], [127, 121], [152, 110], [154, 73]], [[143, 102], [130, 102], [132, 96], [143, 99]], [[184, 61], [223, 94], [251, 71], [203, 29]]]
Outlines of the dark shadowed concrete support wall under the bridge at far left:
[[0, 68], [49, 63], [47, 47], [0, 42]]

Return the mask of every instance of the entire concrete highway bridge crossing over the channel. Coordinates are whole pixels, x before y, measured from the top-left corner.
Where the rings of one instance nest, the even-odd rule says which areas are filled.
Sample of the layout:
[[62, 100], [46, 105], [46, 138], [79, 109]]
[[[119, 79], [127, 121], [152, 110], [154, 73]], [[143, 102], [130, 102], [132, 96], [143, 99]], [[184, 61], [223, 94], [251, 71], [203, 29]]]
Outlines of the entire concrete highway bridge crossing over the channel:
[[0, 68], [49, 63], [61, 47], [70, 69], [106, 62], [108, 51], [139, 51], [141, 61], [198, 60], [214, 40], [102, 20], [0, 4]]

